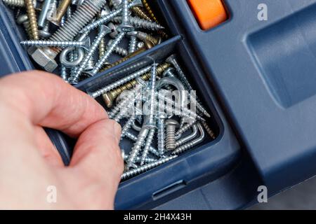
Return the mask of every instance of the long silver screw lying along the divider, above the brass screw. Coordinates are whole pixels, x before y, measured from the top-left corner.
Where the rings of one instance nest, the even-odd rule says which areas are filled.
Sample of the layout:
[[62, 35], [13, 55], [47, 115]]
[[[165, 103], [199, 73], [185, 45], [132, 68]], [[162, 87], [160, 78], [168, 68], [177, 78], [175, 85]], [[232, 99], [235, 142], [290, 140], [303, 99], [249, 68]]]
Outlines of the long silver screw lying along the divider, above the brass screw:
[[135, 73], [132, 73], [129, 76], [126, 76], [125, 78], [122, 78], [120, 80], [118, 80], [115, 83], [112, 83], [111, 85], [107, 85], [106, 87], [97, 90], [96, 92], [92, 92], [90, 94], [91, 97], [96, 98], [96, 97], [100, 97], [102, 94], [104, 94], [105, 92], [108, 92], [110, 90], [113, 90], [116, 87], [119, 87], [120, 85], [123, 85], [124, 83], [129, 82], [130, 80], [133, 80], [136, 77], [142, 76], [144, 73], [149, 72], [152, 69], [152, 66], [147, 66], [143, 69], [140, 69], [139, 71], [136, 71]]

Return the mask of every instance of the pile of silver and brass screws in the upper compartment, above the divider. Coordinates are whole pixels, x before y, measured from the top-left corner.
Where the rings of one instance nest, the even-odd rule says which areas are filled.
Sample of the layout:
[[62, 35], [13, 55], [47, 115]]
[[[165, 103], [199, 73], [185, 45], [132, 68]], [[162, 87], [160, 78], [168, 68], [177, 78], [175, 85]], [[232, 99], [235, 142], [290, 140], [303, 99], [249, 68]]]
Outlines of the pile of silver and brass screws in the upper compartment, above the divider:
[[[34, 62], [49, 72], [59, 67], [60, 76], [72, 85], [168, 37], [147, 0], [3, 1], [18, 8], [17, 22], [30, 39], [21, 44], [29, 46]], [[91, 36], [96, 36], [93, 41]], [[129, 43], [128, 49], [120, 46], [124, 43]]]

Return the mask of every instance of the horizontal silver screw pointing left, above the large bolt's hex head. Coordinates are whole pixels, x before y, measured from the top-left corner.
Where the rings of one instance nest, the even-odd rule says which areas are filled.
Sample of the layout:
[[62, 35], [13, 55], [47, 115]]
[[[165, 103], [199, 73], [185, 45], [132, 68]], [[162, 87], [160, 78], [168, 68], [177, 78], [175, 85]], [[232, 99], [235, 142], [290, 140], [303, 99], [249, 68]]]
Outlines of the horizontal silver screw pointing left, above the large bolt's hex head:
[[86, 38], [85, 41], [21, 41], [20, 44], [27, 46], [37, 46], [37, 47], [82, 47], [88, 49], [90, 47], [90, 38]]

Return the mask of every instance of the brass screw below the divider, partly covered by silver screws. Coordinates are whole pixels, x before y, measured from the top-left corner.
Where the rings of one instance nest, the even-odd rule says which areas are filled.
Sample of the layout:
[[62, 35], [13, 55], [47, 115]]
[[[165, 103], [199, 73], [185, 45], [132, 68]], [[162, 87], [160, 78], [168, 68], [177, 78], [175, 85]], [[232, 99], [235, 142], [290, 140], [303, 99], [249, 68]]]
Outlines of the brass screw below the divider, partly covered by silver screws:
[[[157, 66], [157, 76], [162, 75], [162, 73], [164, 73], [164, 71], [166, 71], [166, 69], [168, 69], [170, 66], [171, 66], [171, 64], [169, 64], [167, 62]], [[142, 78], [143, 80], [146, 81], [146, 80], [150, 80], [151, 76], [152, 76], [152, 74], [150, 72], [147, 72], [147, 73], [143, 74], [143, 76], [140, 76], [140, 78]], [[120, 87], [117, 87], [116, 89], [103, 94], [103, 100], [104, 100], [106, 106], [108, 108], [112, 107], [114, 99], [117, 99], [119, 94], [121, 94], [125, 90], [133, 89], [133, 87], [135, 87], [136, 85], [137, 85], [137, 80], [134, 79], [134, 80], [129, 81], [129, 83], [121, 85]]]

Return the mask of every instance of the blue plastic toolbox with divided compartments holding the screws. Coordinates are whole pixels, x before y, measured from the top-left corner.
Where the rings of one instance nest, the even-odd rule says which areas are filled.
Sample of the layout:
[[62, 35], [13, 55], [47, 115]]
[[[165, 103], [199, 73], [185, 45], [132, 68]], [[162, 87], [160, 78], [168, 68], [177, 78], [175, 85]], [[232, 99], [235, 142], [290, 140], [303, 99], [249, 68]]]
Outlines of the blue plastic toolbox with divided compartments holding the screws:
[[[185, 0], [156, 0], [172, 38], [77, 85], [92, 92], [126, 71], [180, 55], [213, 114], [215, 141], [121, 183], [117, 209], [242, 209], [316, 173], [316, 0], [225, 0], [229, 19], [202, 30]], [[258, 20], [258, 5], [268, 20]], [[1, 75], [34, 69], [0, 3]], [[100, 101], [102, 104], [102, 102]], [[73, 142], [47, 130], [65, 163]]]

